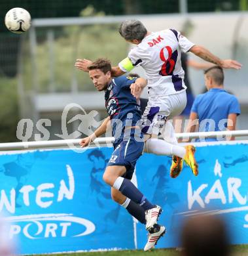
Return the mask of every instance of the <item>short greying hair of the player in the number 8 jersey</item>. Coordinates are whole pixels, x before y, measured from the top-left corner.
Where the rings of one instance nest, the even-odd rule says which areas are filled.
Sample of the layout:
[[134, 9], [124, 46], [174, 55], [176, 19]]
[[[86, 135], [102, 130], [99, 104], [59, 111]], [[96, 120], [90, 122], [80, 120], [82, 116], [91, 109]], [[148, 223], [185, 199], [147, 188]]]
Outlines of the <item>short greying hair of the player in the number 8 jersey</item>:
[[147, 29], [139, 20], [125, 20], [120, 24], [119, 33], [126, 40], [142, 41], [147, 34]]

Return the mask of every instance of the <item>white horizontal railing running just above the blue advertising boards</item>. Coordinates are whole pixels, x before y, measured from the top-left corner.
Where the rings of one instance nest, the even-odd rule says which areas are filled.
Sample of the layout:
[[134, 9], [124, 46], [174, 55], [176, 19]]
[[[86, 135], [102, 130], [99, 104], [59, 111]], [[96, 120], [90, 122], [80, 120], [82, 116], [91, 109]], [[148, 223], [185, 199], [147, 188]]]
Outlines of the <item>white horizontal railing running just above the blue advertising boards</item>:
[[[213, 131], [204, 133], [176, 133], [177, 139], [198, 139], [198, 138], [216, 138], [216, 137], [245, 137], [248, 136], [248, 130], [239, 131]], [[113, 137], [97, 138], [92, 146], [99, 144], [104, 146], [111, 144], [114, 141]], [[69, 139], [69, 140], [41, 140], [41, 141], [30, 141], [30, 142], [9, 142], [0, 143], [1, 150], [27, 150], [35, 148], [69, 148], [71, 146], [79, 146], [80, 139]]]

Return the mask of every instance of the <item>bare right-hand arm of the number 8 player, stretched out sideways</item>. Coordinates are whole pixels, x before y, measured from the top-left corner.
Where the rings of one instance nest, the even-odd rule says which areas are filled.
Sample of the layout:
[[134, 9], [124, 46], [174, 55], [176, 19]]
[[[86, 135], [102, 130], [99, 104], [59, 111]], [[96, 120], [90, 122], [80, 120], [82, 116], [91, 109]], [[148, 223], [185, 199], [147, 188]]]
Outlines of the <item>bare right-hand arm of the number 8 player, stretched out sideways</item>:
[[200, 45], [194, 45], [189, 51], [205, 61], [221, 66], [221, 68], [234, 68], [235, 70], [239, 70], [242, 66], [236, 60], [221, 60], [221, 58], [218, 58]]

